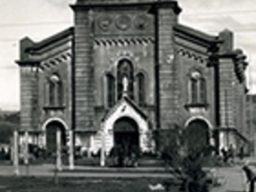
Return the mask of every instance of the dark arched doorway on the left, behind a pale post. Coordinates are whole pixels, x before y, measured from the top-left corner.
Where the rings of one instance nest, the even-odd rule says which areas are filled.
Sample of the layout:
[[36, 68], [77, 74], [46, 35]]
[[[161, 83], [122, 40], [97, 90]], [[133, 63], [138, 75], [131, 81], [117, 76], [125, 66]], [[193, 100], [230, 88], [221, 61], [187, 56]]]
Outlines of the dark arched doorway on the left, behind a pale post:
[[66, 146], [66, 129], [62, 122], [53, 121], [46, 125], [46, 149], [52, 152], [56, 151], [57, 131], [61, 131], [61, 144]]

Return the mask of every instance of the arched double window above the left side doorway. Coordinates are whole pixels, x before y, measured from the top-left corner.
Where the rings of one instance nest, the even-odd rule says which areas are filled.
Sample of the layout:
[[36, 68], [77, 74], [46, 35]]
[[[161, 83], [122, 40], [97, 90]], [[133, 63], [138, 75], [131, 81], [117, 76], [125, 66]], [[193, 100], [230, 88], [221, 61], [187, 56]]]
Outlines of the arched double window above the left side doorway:
[[[59, 78], [58, 74], [53, 74], [50, 76], [48, 81], [48, 86], [46, 86], [46, 93], [49, 94], [48, 101], [50, 106], [62, 106], [63, 104], [63, 87], [62, 81]], [[46, 99], [47, 100], [47, 99]]]

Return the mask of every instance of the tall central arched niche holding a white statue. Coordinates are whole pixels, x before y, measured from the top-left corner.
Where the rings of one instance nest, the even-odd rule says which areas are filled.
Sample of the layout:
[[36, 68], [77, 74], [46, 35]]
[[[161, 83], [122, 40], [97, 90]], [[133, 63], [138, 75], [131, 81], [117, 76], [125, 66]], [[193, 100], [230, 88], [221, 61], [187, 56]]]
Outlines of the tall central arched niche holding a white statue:
[[118, 99], [122, 98], [125, 91], [134, 99], [134, 69], [129, 60], [122, 59], [118, 62]]

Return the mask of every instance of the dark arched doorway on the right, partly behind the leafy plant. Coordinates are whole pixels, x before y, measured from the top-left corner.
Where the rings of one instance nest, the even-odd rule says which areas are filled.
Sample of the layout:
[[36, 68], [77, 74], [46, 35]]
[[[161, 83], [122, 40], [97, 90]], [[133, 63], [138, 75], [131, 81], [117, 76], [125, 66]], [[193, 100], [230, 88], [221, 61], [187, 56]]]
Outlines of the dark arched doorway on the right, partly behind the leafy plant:
[[210, 146], [209, 126], [205, 121], [196, 119], [185, 130], [186, 148], [190, 154], [205, 151]]

